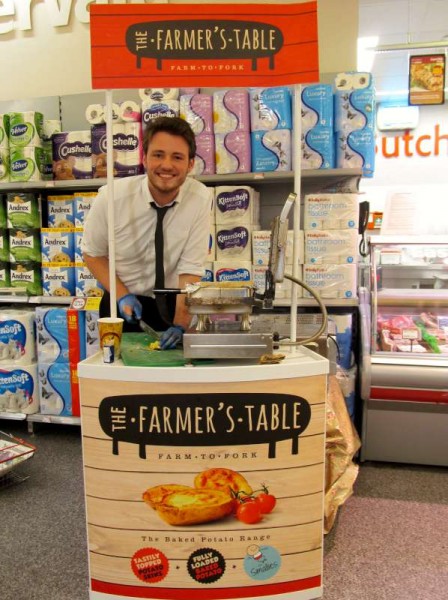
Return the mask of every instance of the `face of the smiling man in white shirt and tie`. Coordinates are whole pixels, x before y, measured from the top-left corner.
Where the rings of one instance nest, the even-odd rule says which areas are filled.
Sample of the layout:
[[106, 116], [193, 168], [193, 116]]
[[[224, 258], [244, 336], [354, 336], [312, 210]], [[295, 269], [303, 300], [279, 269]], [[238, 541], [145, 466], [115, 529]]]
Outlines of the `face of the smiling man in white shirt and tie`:
[[188, 144], [183, 137], [159, 131], [151, 139], [143, 165], [149, 189], [159, 204], [171, 202], [193, 168], [188, 157]]

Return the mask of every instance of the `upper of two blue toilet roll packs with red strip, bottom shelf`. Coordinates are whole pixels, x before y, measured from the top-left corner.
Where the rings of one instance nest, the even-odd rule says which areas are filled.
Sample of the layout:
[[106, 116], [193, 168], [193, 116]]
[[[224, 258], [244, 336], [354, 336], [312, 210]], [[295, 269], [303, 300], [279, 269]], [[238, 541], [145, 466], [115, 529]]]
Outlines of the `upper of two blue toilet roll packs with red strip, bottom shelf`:
[[36, 308], [37, 360], [40, 364], [84, 360], [85, 312], [66, 307]]

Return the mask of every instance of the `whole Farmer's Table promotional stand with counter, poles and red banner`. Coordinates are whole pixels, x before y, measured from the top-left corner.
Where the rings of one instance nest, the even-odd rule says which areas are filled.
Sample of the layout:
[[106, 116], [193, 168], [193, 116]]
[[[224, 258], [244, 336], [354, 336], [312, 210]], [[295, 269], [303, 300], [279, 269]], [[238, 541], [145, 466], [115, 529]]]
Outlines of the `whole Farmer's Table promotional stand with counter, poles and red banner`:
[[[262, 13], [240, 4], [95, 5], [91, 33], [96, 88], [318, 79], [316, 2]], [[106, 101], [111, 147], [110, 90]], [[299, 211], [296, 202], [295, 234]], [[79, 364], [91, 600], [322, 596], [328, 361], [303, 347], [278, 351], [278, 364], [246, 356], [130, 366], [99, 354]], [[235, 481], [243, 496], [229, 494]], [[262, 497], [269, 510], [254, 517]]]

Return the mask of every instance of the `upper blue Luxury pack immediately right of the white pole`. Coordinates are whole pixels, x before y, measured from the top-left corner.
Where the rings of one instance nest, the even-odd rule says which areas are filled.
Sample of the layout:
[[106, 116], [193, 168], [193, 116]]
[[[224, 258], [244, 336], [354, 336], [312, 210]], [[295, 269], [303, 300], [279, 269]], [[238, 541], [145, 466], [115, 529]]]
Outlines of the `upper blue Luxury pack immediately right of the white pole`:
[[333, 88], [325, 83], [302, 88], [302, 132], [313, 127], [333, 127]]

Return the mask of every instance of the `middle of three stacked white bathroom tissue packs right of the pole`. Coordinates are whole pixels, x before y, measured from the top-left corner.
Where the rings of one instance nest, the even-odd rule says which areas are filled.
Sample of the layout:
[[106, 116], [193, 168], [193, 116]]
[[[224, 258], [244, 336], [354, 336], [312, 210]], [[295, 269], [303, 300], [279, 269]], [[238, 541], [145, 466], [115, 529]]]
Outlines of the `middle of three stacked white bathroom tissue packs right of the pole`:
[[351, 264], [358, 262], [358, 230], [340, 229], [305, 232], [305, 262]]

